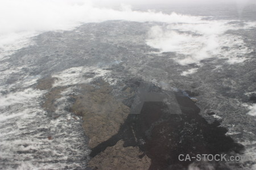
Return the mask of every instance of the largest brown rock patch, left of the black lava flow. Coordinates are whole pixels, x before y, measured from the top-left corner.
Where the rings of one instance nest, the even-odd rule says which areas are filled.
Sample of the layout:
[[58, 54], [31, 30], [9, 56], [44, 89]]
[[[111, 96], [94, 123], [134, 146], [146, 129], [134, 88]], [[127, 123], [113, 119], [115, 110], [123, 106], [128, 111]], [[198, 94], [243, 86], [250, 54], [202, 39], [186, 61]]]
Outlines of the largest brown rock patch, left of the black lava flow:
[[112, 88], [103, 80], [92, 85], [80, 84], [71, 111], [81, 115], [82, 126], [90, 138], [89, 147], [93, 148], [118, 133], [125, 122], [129, 108], [111, 95]]

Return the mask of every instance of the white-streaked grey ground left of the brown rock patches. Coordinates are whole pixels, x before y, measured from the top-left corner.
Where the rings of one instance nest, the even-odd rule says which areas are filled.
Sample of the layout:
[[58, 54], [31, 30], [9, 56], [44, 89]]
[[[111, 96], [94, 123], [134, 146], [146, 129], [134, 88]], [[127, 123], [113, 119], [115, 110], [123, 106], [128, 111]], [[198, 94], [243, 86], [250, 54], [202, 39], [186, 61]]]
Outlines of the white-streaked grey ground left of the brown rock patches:
[[88, 150], [80, 118], [65, 111], [65, 96], [55, 101], [55, 113], [44, 111], [40, 103], [45, 92], [27, 88], [0, 97], [1, 168], [64, 169], [68, 164], [74, 169], [84, 163], [79, 161]]

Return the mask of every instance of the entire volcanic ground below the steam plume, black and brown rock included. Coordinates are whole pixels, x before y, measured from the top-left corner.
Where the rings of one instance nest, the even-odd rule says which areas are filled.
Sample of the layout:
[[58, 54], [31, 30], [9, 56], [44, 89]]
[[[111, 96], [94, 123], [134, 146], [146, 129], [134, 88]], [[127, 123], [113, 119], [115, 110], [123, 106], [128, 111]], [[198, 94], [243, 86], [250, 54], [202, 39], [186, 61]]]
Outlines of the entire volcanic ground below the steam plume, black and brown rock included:
[[[179, 19], [44, 32], [3, 57], [1, 168], [255, 169], [255, 22]], [[172, 95], [130, 114], [141, 83]]]

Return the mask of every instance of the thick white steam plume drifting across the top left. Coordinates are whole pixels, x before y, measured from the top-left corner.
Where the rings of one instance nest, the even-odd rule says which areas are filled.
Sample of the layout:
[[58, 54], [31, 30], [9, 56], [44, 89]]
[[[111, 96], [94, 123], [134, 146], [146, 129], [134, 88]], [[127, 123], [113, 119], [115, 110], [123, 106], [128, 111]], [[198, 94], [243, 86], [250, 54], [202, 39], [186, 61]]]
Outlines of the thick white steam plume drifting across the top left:
[[120, 10], [100, 8], [86, 0], [0, 0], [0, 49], [23, 42], [21, 38], [40, 32], [67, 30], [82, 23], [105, 20], [200, 22], [200, 18], [195, 16], [133, 11], [125, 5]]

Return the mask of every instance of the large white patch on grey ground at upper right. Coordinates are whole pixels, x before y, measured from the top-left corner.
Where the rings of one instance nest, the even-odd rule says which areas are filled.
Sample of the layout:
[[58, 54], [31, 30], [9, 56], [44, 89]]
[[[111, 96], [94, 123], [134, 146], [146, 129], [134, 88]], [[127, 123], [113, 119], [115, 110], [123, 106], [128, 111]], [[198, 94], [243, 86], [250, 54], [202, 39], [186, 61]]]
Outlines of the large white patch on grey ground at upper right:
[[249, 49], [240, 36], [226, 35], [228, 30], [250, 29], [256, 23], [240, 26], [229, 24], [229, 20], [201, 20], [201, 23], [175, 23], [167, 26], [155, 25], [148, 32], [147, 45], [160, 52], [175, 52], [180, 65], [199, 63], [207, 58], [227, 58], [228, 63], [246, 60]]

